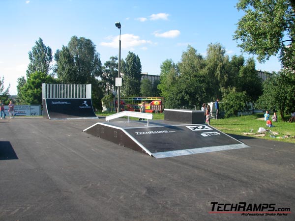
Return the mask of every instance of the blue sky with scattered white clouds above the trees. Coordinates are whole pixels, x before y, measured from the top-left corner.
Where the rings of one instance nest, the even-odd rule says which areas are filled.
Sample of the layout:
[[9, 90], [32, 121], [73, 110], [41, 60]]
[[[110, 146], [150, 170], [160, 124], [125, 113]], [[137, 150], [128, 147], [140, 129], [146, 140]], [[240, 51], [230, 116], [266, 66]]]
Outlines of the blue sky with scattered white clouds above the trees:
[[[227, 54], [241, 55], [233, 41], [236, 23], [243, 12], [237, 0], [0, 0], [0, 77], [10, 94], [17, 79], [26, 76], [28, 52], [41, 37], [53, 54], [73, 35], [89, 38], [102, 63], [118, 56], [121, 23], [121, 58], [129, 51], [139, 56], [142, 72], [160, 74], [166, 59], [180, 61], [191, 45], [206, 56], [210, 43], [220, 43]], [[245, 58], [253, 55], [242, 54]], [[254, 56], [255, 57], [255, 56]], [[278, 71], [271, 57], [256, 69]]]

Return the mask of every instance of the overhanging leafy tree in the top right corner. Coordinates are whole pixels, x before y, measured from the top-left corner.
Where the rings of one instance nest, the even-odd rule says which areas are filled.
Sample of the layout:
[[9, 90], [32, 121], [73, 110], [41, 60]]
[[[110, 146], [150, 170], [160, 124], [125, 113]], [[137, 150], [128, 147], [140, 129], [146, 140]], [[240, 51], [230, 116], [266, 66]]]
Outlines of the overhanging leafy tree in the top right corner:
[[239, 0], [236, 8], [245, 12], [233, 36], [238, 47], [260, 62], [279, 54], [282, 65], [295, 70], [294, 0]]

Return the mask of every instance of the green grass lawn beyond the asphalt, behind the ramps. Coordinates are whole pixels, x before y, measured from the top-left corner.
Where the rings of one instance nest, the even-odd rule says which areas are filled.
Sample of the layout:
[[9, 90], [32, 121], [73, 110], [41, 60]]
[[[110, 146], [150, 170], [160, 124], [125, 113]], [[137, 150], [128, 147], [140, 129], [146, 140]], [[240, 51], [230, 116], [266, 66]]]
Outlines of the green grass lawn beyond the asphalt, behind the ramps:
[[[115, 113], [115, 112], [113, 112]], [[105, 113], [99, 112], [97, 115], [99, 116], [107, 116], [113, 113]], [[134, 118], [135, 119], [135, 118]], [[163, 113], [153, 113], [153, 120], [163, 120]], [[273, 122], [274, 127], [266, 127], [266, 122], [263, 119], [263, 113], [253, 114], [253, 115], [245, 115], [239, 117], [230, 117], [224, 119], [211, 119], [210, 125], [217, 128], [223, 133], [226, 134], [236, 134], [242, 136], [248, 136], [253, 138], [262, 138], [269, 140], [278, 140], [284, 142], [295, 143], [295, 123], [283, 122], [280, 119], [278, 114], [278, 122]], [[258, 135], [258, 129], [263, 127], [267, 130], [265, 137], [256, 137]], [[276, 132], [277, 134], [272, 134]], [[253, 133], [254, 135], [245, 135], [244, 133]], [[272, 138], [270, 136], [275, 136]], [[290, 136], [284, 138], [285, 136]]]

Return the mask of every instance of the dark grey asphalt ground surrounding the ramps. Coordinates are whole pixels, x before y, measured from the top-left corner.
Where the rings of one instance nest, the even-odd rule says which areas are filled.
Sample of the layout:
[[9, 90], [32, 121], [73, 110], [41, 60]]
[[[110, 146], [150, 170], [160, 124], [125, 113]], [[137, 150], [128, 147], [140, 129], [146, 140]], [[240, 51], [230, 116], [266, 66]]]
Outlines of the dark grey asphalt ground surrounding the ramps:
[[294, 144], [155, 159], [83, 132], [98, 121], [0, 120], [0, 221], [295, 220]]

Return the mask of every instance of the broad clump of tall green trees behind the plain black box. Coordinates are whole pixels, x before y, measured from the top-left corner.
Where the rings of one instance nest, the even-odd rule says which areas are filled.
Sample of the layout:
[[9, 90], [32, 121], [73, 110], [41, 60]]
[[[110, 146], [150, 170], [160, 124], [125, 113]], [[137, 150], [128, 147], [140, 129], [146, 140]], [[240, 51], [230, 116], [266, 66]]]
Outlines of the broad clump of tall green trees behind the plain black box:
[[[177, 65], [172, 60], [162, 63], [160, 80], [158, 88], [166, 108], [194, 109], [223, 95], [245, 101], [232, 107], [242, 109], [229, 110], [228, 115], [235, 115], [244, 110], [249, 99], [255, 101], [261, 94], [254, 59], [247, 60], [246, 65], [243, 56], [233, 56], [230, 61], [220, 44], [210, 44], [206, 58], [188, 46]], [[235, 93], [238, 97], [233, 96]]]

